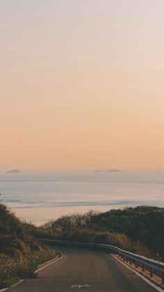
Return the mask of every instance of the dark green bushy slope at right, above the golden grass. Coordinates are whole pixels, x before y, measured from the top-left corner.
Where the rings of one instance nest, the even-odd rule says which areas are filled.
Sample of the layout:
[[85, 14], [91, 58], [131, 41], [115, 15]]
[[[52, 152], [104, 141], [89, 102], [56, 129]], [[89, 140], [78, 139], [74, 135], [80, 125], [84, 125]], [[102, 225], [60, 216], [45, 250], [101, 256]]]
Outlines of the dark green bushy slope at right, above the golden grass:
[[131, 240], [140, 240], [164, 259], [164, 208], [138, 206], [111, 210], [92, 217], [90, 226], [110, 232], [124, 233]]

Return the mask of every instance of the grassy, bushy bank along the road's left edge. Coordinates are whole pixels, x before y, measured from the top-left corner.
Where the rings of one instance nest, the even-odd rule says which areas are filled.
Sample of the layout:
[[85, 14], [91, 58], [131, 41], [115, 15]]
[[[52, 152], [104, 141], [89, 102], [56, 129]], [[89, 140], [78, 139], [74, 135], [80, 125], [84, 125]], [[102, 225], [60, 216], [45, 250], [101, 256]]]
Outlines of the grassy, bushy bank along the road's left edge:
[[0, 203], [0, 289], [35, 277], [38, 265], [56, 256], [60, 254], [27, 233], [24, 223]]

